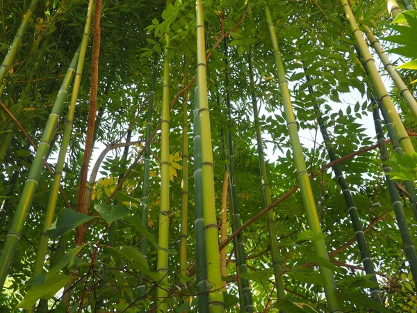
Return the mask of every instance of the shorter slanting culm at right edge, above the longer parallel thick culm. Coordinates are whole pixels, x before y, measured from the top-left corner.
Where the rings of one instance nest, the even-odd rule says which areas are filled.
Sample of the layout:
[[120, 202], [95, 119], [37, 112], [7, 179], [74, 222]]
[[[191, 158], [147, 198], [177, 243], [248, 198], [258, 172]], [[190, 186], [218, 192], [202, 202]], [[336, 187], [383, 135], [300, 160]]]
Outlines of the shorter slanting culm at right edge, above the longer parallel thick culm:
[[362, 26], [363, 26], [363, 29], [365, 30], [366, 36], [368, 37], [370, 45], [373, 47], [375, 52], [377, 52], [379, 59], [382, 61], [382, 64], [384, 64], [384, 68], [386, 72], [389, 73], [389, 76], [395, 83], [395, 86], [398, 88], [400, 95], [404, 98], [405, 102], [407, 103], [407, 106], [409, 106], [409, 109], [413, 113], [414, 117], [417, 118], [416, 99], [414, 99], [413, 94], [411, 93], [409, 88], [407, 88], [404, 81], [402, 81], [398, 72], [394, 69], [393, 65], [389, 61], [388, 56], [386, 56], [384, 49], [382, 49], [381, 45], [379, 45], [377, 38], [375, 38], [370, 28], [366, 25], [362, 25]]

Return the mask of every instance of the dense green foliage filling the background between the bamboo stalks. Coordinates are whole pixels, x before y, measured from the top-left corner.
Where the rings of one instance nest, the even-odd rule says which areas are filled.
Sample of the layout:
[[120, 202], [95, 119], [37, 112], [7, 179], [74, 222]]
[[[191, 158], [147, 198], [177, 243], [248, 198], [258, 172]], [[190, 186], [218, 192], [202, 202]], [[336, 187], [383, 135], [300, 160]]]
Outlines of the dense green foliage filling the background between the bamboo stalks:
[[[22, 22], [29, 6], [26, 2], [1, 1], [1, 58], [6, 56]], [[207, 61], [208, 105], [211, 109], [218, 223], [224, 172], [231, 165], [227, 134], [233, 137], [234, 179], [241, 223], [265, 208], [252, 113], [250, 62], [254, 67], [254, 95], [259, 106], [259, 125], [272, 201], [292, 192], [273, 209], [286, 298], [277, 300], [268, 223], [264, 215], [250, 223], [239, 239], [245, 243], [247, 273], [236, 273], [236, 241], [230, 241], [225, 248], [228, 266], [223, 279], [227, 282], [227, 291], [224, 292], [227, 312], [240, 311], [242, 301], [239, 299], [238, 282], [242, 279], [250, 282], [255, 312], [278, 312], [279, 309], [286, 312], [327, 312], [327, 300], [323, 293], [326, 282], [318, 266], [333, 271], [345, 312], [382, 311], [380, 305], [368, 295], [369, 289], [375, 287], [376, 283], [372, 275], [366, 275], [363, 269], [341, 187], [332, 168], [327, 166], [330, 159], [320, 134], [319, 117], [329, 132], [327, 144], [332, 145], [338, 159], [345, 157], [340, 166], [363, 223], [377, 282], [382, 290], [382, 305], [393, 312], [416, 312], [416, 284], [407, 263], [375, 135], [375, 103], [371, 97], [373, 83], [361, 65], [360, 56], [358, 58], [354, 48], [357, 44], [339, 1], [206, 0], [203, 5], [206, 53], [210, 56]], [[301, 193], [294, 189], [298, 184], [297, 171], [263, 13], [266, 5], [272, 13], [286, 69], [322, 234], [309, 230]], [[5, 154], [0, 154], [3, 158], [0, 160], [0, 245], [3, 245], [12, 225], [13, 214], [35, 157], [35, 148], [28, 138], [35, 144], [41, 141], [51, 107], [81, 43], [87, 10], [88, 1], [38, 1], [22, 36], [22, 45], [0, 88], [0, 152], [2, 149], [5, 151]], [[352, 4], [352, 10], [362, 30], [363, 26], [370, 27], [385, 50], [393, 49], [395, 54], [389, 55], [389, 58], [395, 65], [417, 57], [414, 49], [417, 33], [415, 11], [407, 11], [408, 15], [404, 15], [407, 18], [402, 21], [408, 22], [410, 28], [401, 26], [401, 21], [397, 26], [392, 26], [392, 17], [382, 0], [356, 1]], [[195, 193], [194, 171], [191, 170], [195, 155], [195, 95], [191, 81], [197, 65], [195, 15], [195, 1], [190, 0], [172, 1], [166, 7], [165, 1], [159, 0], [103, 1], [95, 152], [90, 163], [90, 174], [101, 151], [107, 147], [111, 153], [102, 162], [98, 177], [93, 179], [90, 216], [81, 218], [70, 208], [74, 209], [79, 201], [79, 175], [87, 136], [92, 84], [91, 32], [61, 181], [65, 198], [58, 195], [54, 216], [57, 221], [53, 229], [48, 231], [44, 274], [33, 278], [33, 265], [54, 176], [48, 170], [42, 170], [24, 222], [22, 238], [10, 263], [8, 278], [0, 296], [1, 312], [20, 312], [22, 307], [30, 309], [40, 298], [49, 299], [52, 312], [65, 312], [67, 307], [70, 312], [137, 312], [143, 307], [147, 312], [157, 312], [156, 286], [162, 280], [161, 273], [156, 272], [157, 254], [161, 249], [164, 250], [156, 240], [161, 201], [160, 166], [165, 163], [161, 163], [160, 131], [150, 143], [147, 186], [149, 215], [147, 220], [142, 218], [142, 221], [138, 216], [143, 202], [142, 183], [147, 175], [144, 176], [144, 159], [138, 159], [138, 156], [142, 156], [142, 150], [145, 149], [154, 65], [158, 74], [150, 121], [152, 131], [161, 122], [166, 35], [170, 38], [165, 58], [170, 61], [169, 100], [172, 109], [169, 124], [170, 203], [167, 215], [170, 250], [168, 284], [164, 286], [168, 296], [163, 301], [171, 312], [197, 312]], [[404, 27], [408, 30], [404, 30]], [[413, 36], [414, 41], [410, 39]], [[224, 53], [225, 38], [227, 60]], [[374, 54], [374, 57], [377, 66], [381, 65], [378, 56]], [[411, 81], [416, 79], [415, 69], [415, 63], [408, 63], [399, 72], [413, 95], [416, 95], [416, 85]], [[413, 138], [417, 127], [416, 117], [401, 97], [402, 90], [393, 86], [383, 67], [380, 73], [389, 87], [404, 127], [416, 146]], [[228, 86], [225, 83], [226, 75]], [[56, 168], [63, 141], [71, 90], [47, 152], [52, 172]], [[227, 115], [227, 93], [231, 104], [230, 118]], [[183, 199], [183, 102], [188, 107], [188, 275], [181, 275], [179, 266], [179, 225]], [[27, 134], [24, 134], [23, 129]], [[8, 136], [11, 138], [10, 144]], [[134, 144], [129, 149], [118, 145], [126, 142]], [[400, 183], [407, 179], [414, 181], [414, 155], [396, 157], [390, 142], [386, 142], [386, 147], [391, 160], [397, 160], [386, 162], [393, 167], [394, 178], [400, 179]], [[398, 163], [402, 166], [397, 166]], [[122, 188], [115, 193], [118, 182], [129, 166], [131, 172], [125, 177]], [[400, 192], [400, 195], [411, 238], [416, 239], [417, 220], [409, 196], [407, 191]], [[235, 230], [232, 224], [236, 219], [230, 214], [228, 208], [227, 234]], [[75, 247], [74, 229], [81, 221], [88, 221], [87, 237], [85, 244]], [[58, 244], [63, 236], [65, 244]], [[139, 252], [144, 238], [149, 243], [146, 258]], [[330, 262], [314, 252], [315, 243], [322, 239], [325, 240]], [[60, 252], [63, 255], [60, 251], [62, 247], [65, 248], [65, 256], [60, 262], [54, 263], [55, 267], [51, 266], [54, 254]], [[143, 273], [146, 274], [145, 280]], [[141, 294], [139, 288], [142, 280], [147, 285], [145, 295]], [[17, 305], [20, 308], [16, 308]]]

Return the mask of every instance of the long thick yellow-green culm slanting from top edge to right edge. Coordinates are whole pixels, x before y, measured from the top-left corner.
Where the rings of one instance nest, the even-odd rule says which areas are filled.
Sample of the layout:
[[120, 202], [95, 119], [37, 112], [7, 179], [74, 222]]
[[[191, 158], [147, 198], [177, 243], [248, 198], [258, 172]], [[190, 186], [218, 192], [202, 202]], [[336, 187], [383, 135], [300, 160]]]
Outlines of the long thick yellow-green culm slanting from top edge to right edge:
[[372, 79], [377, 90], [378, 98], [381, 100], [386, 111], [389, 113], [391, 121], [393, 122], [393, 126], [400, 140], [402, 150], [404, 150], [404, 152], [407, 154], [412, 154], [414, 152], [414, 147], [407, 134], [407, 130], [405, 129], [404, 125], [402, 125], [400, 115], [398, 115], [398, 112], [395, 110], [393, 101], [384, 86], [384, 82], [379, 76], [379, 72], [375, 65], [375, 61], [369, 52], [365, 40], [362, 37], [361, 31], [359, 30], [359, 26], [356, 22], [356, 19], [354, 18], [350, 5], [349, 3], [347, 3], [347, 0], [341, 0], [341, 5], [345, 12], [347, 21], [350, 24], [350, 29], [352, 30], [354, 38], [357, 41], [359, 50], [361, 51], [361, 55], [363, 56], [363, 60], [366, 64], [366, 67], [368, 68], [370, 78]]

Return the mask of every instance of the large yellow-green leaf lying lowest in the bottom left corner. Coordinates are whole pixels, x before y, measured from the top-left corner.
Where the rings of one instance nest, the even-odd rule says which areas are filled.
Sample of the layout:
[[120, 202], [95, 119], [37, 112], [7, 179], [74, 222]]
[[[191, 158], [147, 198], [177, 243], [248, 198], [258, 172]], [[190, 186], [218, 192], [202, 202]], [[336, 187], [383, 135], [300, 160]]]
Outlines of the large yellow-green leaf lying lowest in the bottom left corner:
[[74, 277], [55, 274], [51, 276], [49, 279], [45, 280], [43, 284], [40, 286], [33, 287], [29, 289], [24, 296], [24, 299], [17, 305], [17, 308], [28, 310], [33, 305], [35, 305], [36, 301], [39, 299], [48, 300], [52, 298], [60, 289], [62, 289], [65, 284], [70, 282]]

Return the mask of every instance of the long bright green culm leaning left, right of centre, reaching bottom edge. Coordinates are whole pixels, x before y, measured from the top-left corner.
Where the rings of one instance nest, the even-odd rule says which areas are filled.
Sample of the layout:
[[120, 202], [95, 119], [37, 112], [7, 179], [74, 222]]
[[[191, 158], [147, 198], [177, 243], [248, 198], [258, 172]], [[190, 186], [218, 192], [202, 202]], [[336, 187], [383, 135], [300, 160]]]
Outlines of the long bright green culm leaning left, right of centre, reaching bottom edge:
[[[309, 174], [306, 170], [306, 163], [302, 154], [302, 145], [297, 131], [297, 123], [295, 122], [295, 116], [293, 113], [293, 106], [291, 104], [291, 96], [288, 90], [288, 83], [285, 78], [284, 64], [281, 59], [281, 52], [279, 51], [277, 35], [275, 34], [275, 27], [272, 24], [272, 17], [268, 6], [265, 6], [265, 19], [268, 24], [268, 31], [270, 33], [270, 40], [272, 49], [274, 52], [275, 66], [277, 67], [279, 90], [284, 104], [284, 114], [288, 128], [288, 134], [290, 136], [291, 147], [293, 148], [293, 155], [295, 161], [295, 168], [297, 169], [297, 178], [300, 184], [300, 191], [302, 194], [302, 200], [304, 202], [304, 209], [306, 212], [307, 225], [310, 230], [315, 233], [322, 234], [320, 227], [320, 221], [318, 219], [316, 203], [313, 198], [313, 191], [311, 190], [311, 184]], [[324, 240], [313, 241], [314, 250], [319, 257], [329, 259], [327, 248]], [[325, 266], [318, 266], [320, 273], [327, 282], [324, 286], [325, 296], [327, 299], [327, 305], [329, 312], [340, 313], [343, 312], [340, 296], [336, 288], [336, 282], [332, 270]]]

